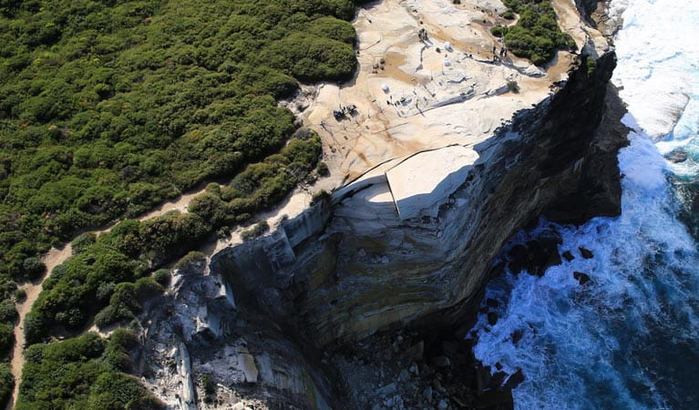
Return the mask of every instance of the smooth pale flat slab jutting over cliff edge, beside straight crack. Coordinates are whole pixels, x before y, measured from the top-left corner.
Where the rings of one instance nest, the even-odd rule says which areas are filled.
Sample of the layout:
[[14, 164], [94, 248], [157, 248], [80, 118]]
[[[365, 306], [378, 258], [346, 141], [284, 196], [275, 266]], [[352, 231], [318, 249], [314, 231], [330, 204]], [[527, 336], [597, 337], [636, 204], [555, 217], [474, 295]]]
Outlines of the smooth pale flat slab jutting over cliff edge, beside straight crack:
[[464, 183], [478, 159], [473, 149], [460, 145], [417, 153], [385, 172], [402, 220], [437, 217], [439, 206]]

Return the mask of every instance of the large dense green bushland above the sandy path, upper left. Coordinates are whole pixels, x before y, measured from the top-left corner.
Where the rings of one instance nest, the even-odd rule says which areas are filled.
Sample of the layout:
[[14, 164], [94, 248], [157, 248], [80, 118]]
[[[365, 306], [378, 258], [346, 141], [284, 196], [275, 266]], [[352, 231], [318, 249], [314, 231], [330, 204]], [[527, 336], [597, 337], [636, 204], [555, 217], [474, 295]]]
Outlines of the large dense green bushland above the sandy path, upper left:
[[280, 149], [295, 127], [276, 99], [352, 76], [353, 15], [350, 0], [0, 2], [0, 300], [76, 231]]

